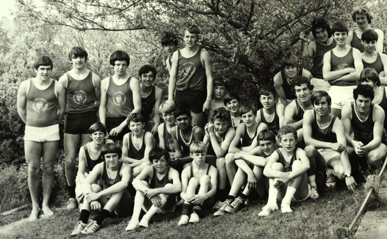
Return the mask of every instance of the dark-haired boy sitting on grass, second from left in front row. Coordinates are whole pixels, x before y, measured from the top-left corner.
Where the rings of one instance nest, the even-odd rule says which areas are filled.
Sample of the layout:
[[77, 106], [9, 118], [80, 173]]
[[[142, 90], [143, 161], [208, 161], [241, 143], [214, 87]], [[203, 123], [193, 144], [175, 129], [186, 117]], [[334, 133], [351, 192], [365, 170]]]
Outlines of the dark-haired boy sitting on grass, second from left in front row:
[[[137, 191], [133, 216], [126, 231], [136, 227], [149, 227], [149, 220], [156, 212], [168, 214], [176, 208], [176, 194], [181, 192], [181, 182], [178, 171], [168, 166], [170, 154], [166, 150], [155, 147], [149, 152], [151, 166], [146, 167], [133, 180]], [[141, 210], [146, 214], [139, 222]]]

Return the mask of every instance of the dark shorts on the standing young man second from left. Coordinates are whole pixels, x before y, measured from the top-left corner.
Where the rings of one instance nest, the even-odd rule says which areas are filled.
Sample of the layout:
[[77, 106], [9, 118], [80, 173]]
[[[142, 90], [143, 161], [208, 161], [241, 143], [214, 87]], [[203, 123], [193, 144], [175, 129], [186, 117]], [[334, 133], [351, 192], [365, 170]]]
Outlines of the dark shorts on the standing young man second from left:
[[88, 135], [90, 126], [97, 121], [96, 111], [66, 113], [64, 117], [64, 132], [70, 135]]

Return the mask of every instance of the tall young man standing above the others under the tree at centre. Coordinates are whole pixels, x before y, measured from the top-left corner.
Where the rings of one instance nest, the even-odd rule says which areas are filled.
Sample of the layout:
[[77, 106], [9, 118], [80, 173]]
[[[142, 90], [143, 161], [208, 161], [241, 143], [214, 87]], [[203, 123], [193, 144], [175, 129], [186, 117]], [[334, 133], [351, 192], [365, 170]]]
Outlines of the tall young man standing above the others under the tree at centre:
[[185, 30], [185, 48], [172, 56], [168, 100], [176, 90], [176, 107], [191, 111], [192, 123], [203, 127], [204, 112], [211, 109], [213, 72], [208, 51], [198, 46], [199, 29], [192, 25]]

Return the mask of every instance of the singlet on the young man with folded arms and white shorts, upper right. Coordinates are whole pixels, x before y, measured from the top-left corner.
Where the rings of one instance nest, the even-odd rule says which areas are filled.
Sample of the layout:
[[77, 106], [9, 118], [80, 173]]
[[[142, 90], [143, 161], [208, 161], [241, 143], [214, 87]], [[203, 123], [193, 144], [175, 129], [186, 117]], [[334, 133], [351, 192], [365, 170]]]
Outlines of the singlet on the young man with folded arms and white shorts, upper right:
[[[355, 60], [353, 59], [353, 48], [351, 47], [344, 57], [336, 57], [333, 50], [330, 50], [330, 64], [332, 71], [343, 70], [345, 68], [355, 68]], [[349, 86], [359, 85], [359, 81], [336, 81], [330, 85], [334, 86]]]

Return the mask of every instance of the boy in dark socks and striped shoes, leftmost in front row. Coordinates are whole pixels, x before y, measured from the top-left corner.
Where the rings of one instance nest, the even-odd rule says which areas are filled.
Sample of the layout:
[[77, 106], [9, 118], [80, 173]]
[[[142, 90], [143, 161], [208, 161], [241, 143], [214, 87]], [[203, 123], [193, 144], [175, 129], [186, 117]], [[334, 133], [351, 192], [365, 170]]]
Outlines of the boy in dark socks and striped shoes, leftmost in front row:
[[[120, 147], [114, 143], [107, 143], [102, 147], [101, 156], [105, 161], [96, 165], [82, 184], [85, 197], [79, 221], [71, 236], [93, 234], [111, 213], [118, 216], [131, 214], [133, 203], [127, 190], [132, 178], [131, 167], [120, 161], [121, 155]], [[102, 188], [94, 184], [99, 179], [102, 180]], [[98, 211], [98, 214], [88, 223], [91, 210]]]

